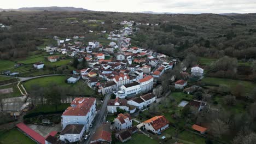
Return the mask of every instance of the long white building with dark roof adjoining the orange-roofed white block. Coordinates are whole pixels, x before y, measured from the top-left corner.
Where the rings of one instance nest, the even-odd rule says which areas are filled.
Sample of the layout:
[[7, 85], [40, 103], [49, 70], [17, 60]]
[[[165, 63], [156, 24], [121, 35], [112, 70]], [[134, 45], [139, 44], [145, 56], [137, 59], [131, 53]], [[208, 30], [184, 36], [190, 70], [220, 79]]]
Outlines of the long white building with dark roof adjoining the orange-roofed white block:
[[141, 85], [138, 82], [129, 83], [120, 87], [120, 91], [115, 95], [121, 99], [131, 97], [141, 92]]

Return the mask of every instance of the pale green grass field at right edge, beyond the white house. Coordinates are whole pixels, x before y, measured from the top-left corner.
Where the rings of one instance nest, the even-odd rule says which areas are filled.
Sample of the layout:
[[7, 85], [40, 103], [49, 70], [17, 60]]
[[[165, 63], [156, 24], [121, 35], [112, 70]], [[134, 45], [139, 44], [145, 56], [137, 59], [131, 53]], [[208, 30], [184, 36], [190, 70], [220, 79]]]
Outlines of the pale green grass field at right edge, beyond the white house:
[[231, 80], [231, 79], [222, 79], [216, 77], [205, 77], [202, 79], [202, 82], [210, 85], [220, 85], [224, 84], [229, 86], [231, 89], [235, 88], [238, 83], [241, 83], [245, 87], [245, 92], [250, 92], [252, 88], [256, 87], [255, 83], [250, 81], [240, 81], [240, 80]]

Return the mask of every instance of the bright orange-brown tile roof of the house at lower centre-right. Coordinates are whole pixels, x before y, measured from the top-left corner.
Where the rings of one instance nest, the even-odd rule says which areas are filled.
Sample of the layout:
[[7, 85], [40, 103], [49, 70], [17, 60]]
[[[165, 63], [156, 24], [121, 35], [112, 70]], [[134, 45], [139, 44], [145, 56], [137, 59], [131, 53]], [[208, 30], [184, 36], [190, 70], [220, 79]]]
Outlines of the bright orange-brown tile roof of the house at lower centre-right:
[[160, 128], [165, 127], [165, 125], [169, 124], [165, 116], [155, 116], [143, 123], [150, 123], [155, 130], [159, 130]]

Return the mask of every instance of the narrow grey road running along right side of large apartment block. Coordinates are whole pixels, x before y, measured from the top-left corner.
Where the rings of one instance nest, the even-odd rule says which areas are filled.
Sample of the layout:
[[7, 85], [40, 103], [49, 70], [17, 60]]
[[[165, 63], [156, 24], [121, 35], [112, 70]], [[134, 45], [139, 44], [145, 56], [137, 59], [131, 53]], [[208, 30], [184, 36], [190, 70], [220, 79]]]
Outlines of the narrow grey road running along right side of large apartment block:
[[[109, 93], [105, 96], [104, 100], [103, 100], [103, 104], [101, 106], [101, 110], [97, 113], [96, 117], [94, 118], [95, 122], [92, 125], [92, 128], [89, 130], [90, 131], [90, 136], [88, 136], [88, 139], [86, 141], [83, 141], [82, 143], [84, 144], [89, 144], [91, 141], [91, 137], [92, 135], [95, 133], [96, 128], [99, 127], [101, 125], [101, 123], [104, 121], [104, 116], [107, 112], [107, 104], [108, 104], [108, 100], [110, 99], [110, 95], [112, 93]], [[106, 117], [105, 117], [106, 118]]]

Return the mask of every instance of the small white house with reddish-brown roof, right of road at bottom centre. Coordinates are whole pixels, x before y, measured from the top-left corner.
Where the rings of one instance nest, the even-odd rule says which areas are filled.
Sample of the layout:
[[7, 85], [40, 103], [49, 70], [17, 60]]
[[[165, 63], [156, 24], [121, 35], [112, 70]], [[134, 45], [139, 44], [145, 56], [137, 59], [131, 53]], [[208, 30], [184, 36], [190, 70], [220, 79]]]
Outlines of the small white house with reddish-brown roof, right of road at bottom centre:
[[132, 117], [129, 113], [120, 113], [117, 118], [114, 119], [115, 129], [123, 130], [132, 127]]

